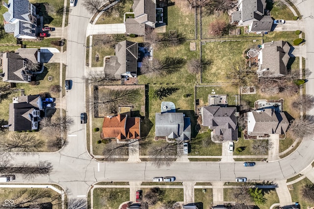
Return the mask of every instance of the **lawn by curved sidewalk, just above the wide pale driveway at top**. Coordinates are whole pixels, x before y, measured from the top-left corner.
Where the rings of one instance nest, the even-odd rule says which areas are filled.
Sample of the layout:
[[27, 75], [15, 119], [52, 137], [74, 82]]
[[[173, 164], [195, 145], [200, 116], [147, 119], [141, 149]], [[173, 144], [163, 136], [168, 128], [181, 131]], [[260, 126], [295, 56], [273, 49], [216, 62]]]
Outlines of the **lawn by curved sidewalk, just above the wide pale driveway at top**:
[[97, 20], [96, 24], [114, 24], [123, 23], [123, 16], [126, 12], [132, 11], [132, 0], [123, 0], [114, 6], [111, 13], [103, 13]]

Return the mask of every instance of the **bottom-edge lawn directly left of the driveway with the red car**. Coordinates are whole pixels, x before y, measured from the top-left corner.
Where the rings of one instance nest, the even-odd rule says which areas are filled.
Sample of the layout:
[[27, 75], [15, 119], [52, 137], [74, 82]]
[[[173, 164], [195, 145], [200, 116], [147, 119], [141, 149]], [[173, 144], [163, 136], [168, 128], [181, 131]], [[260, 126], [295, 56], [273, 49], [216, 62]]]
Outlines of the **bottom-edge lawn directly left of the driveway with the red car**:
[[94, 209], [118, 209], [120, 204], [130, 199], [129, 188], [95, 188]]

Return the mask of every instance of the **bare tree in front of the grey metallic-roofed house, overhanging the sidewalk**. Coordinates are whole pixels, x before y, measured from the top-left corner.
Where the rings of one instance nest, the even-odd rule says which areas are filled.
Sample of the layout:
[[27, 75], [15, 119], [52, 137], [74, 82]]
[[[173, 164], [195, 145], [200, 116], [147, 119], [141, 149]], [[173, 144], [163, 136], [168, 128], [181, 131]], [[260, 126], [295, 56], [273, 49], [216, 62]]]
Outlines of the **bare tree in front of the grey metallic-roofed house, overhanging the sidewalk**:
[[162, 165], [170, 166], [174, 158], [183, 154], [183, 140], [176, 140], [173, 143], [163, 142], [151, 145], [148, 154], [153, 160], [153, 164], [159, 168]]

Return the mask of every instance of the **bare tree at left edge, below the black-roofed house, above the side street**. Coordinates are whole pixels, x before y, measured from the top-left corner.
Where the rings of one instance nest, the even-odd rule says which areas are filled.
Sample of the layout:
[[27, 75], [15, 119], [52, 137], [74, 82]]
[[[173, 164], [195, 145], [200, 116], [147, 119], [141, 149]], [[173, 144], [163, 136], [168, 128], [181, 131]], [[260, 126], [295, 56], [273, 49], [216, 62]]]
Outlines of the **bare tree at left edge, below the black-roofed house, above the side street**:
[[0, 154], [11, 152], [37, 152], [44, 141], [27, 133], [11, 132], [8, 137], [0, 138]]

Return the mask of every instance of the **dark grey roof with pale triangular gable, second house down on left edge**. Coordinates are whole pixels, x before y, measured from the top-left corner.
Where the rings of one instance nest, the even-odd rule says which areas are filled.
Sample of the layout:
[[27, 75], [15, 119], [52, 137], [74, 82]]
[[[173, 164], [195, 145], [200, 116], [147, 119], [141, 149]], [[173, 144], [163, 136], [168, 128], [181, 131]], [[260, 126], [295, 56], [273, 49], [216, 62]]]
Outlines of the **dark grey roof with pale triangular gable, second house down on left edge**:
[[24, 59], [16, 53], [6, 52], [2, 59], [3, 81], [24, 81], [22, 72], [26, 70], [24, 67]]

